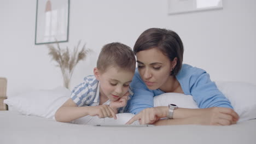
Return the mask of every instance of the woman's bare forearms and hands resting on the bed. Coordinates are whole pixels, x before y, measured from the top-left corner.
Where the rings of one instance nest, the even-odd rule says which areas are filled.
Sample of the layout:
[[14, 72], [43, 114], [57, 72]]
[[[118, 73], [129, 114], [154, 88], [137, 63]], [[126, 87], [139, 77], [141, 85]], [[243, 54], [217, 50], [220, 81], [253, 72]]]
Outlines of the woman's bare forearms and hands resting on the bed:
[[237, 113], [225, 107], [211, 107], [207, 109], [183, 109], [173, 111], [173, 119], [159, 120], [168, 115], [167, 106], [145, 109], [130, 119], [127, 124], [139, 120], [140, 124], [202, 124], [202, 125], [230, 125], [238, 121]]

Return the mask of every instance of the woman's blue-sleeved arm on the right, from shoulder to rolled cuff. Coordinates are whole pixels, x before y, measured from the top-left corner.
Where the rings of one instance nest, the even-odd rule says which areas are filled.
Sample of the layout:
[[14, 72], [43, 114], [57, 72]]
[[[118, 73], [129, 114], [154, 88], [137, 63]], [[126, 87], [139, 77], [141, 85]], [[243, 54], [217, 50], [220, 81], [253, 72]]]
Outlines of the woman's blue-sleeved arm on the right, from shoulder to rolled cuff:
[[219, 91], [205, 70], [183, 64], [182, 70], [176, 77], [181, 83], [183, 92], [192, 95], [199, 108], [228, 107], [233, 109], [230, 101]]

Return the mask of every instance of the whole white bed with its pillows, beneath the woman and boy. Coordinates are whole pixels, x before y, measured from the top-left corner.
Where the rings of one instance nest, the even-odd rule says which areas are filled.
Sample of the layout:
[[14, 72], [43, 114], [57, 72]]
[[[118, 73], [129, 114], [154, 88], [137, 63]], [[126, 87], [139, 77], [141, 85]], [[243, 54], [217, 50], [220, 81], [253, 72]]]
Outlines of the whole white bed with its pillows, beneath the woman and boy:
[[[10, 111], [0, 111], [0, 143], [256, 143], [256, 86], [234, 82], [217, 86], [240, 116], [237, 124], [96, 127], [90, 125], [95, 121], [86, 118], [75, 122], [79, 124], [60, 123], [54, 120], [54, 113], [69, 98], [70, 91], [59, 87], [8, 97], [4, 103]], [[191, 95], [175, 93], [155, 97], [154, 104], [167, 105], [170, 101], [180, 107], [196, 108]], [[124, 115], [118, 114], [119, 124], [128, 121]], [[109, 122], [114, 121], [108, 118]]]

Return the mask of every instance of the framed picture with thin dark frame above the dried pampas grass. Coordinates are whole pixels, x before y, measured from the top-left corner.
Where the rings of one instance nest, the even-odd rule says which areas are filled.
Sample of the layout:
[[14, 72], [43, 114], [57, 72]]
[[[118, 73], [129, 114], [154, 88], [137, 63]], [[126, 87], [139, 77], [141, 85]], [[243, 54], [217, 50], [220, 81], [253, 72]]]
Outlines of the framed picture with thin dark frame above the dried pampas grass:
[[37, 0], [36, 45], [67, 42], [68, 25], [69, 0]]

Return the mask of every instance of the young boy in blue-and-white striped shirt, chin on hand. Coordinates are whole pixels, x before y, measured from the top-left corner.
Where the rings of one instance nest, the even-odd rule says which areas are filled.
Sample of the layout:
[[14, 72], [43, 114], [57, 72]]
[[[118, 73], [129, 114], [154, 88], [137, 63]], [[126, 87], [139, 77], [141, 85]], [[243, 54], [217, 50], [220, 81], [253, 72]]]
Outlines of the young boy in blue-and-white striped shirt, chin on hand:
[[132, 92], [129, 85], [135, 73], [136, 60], [131, 48], [120, 43], [104, 45], [94, 75], [84, 78], [55, 113], [58, 122], [71, 122], [84, 116], [114, 117], [125, 111]]

